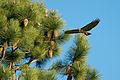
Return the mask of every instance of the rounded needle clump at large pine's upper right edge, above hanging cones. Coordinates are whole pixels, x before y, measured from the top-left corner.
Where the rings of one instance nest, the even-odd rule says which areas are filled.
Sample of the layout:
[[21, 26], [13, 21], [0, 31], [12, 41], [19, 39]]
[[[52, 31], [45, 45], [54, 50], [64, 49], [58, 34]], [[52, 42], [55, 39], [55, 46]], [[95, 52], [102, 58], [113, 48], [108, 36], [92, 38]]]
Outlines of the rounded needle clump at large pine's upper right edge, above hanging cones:
[[64, 26], [64, 22], [56, 13], [55, 10], [48, 12], [48, 16], [43, 19], [42, 25], [47, 31], [61, 29]]

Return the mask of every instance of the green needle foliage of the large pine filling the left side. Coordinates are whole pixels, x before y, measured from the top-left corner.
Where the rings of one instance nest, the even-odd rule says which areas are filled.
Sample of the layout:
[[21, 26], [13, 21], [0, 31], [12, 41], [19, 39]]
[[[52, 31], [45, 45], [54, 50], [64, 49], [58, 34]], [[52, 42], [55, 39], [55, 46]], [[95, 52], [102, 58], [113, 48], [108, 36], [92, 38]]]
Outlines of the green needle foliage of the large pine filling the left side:
[[[48, 58], [51, 40], [55, 42], [55, 48], [52, 49], [53, 56], [61, 53], [58, 43], [68, 39], [66, 36], [60, 37], [59, 34], [58, 37], [53, 37], [57, 35], [53, 32], [59, 32], [64, 26], [64, 22], [57, 12], [48, 10], [46, 13], [43, 3], [32, 2], [32, 0], [0, 0], [0, 15], [0, 45], [1, 50], [5, 48], [0, 53], [0, 56], [5, 56], [1, 65], [9, 67], [12, 75], [15, 75], [15, 71], [20, 69], [22, 71], [20, 80], [48, 80], [48, 78], [56, 80], [54, 71], [29, 69], [29, 65], [21, 64], [21, 60], [28, 53], [31, 55], [27, 57], [30, 58], [29, 61]], [[27, 26], [24, 25], [24, 19], [28, 20]], [[44, 35], [46, 31], [50, 31], [51, 37], [47, 38]], [[16, 64], [19, 66], [17, 67]], [[3, 75], [1, 74], [1, 76]], [[14, 79], [13, 76], [10, 77]]]

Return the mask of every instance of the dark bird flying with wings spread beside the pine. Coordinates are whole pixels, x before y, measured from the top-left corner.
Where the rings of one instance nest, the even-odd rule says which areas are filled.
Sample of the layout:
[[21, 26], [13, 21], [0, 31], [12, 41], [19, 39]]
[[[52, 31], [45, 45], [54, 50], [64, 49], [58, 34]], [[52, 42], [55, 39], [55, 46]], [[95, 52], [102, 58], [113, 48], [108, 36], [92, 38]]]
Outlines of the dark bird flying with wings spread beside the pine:
[[74, 33], [84, 33], [85, 35], [91, 35], [88, 31], [97, 26], [97, 24], [100, 22], [100, 19], [95, 19], [91, 23], [85, 25], [82, 28], [73, 29], [73, 30], [66, 30], [65, 34], [74, 34]]

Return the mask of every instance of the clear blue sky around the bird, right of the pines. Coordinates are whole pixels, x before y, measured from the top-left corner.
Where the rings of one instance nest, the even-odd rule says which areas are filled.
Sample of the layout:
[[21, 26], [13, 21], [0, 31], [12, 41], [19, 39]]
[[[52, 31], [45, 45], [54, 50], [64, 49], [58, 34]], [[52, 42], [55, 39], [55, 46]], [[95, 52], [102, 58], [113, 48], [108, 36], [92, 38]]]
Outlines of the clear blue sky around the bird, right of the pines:
[[42, 1], [48, 9], [58, 11], [65, 20], [65, 29], [82, 27], [100, 18], [88, 38], [88, 64], [100, 72], [102, 80], [120, 80], [120, 0]]

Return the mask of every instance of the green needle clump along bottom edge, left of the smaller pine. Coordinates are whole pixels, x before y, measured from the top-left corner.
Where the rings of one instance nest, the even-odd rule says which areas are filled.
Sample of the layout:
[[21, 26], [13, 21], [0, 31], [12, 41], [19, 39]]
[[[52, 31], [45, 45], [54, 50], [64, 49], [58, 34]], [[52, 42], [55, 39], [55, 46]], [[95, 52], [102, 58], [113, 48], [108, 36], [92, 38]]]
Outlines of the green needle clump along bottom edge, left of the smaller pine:
[[32, 68], [22, 71], [19, 80], [57, 80], [55, 71], [46, 71], [38, 68]]

